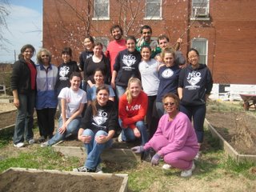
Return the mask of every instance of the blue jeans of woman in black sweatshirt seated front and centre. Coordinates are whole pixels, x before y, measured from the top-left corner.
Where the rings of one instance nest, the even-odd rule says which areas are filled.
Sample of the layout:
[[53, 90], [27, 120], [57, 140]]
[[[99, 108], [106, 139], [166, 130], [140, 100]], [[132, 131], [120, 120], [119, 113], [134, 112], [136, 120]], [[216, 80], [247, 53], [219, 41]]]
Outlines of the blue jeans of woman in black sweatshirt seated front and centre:
[[95, 137], [99, 137], [101, 135], [107, 136], [107, 133], [104, 130], [98, 130], [97, 133], [94, 134], [92, 130], [86, 129], [83, 134], [91, 137], [90, 142], [84, 144], [87, 153], [85, 167], [90, 170], [95, 170], [98, 164], [101, 163], [102, 151], [112, 145], [112, 139], [105, 143], [96, 142]]

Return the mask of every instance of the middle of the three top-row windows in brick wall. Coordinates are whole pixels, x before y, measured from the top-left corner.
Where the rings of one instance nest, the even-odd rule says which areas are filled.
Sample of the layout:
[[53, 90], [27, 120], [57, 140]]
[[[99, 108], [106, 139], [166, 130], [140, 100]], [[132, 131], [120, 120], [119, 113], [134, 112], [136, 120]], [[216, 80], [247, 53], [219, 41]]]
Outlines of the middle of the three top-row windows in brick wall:
[[146, 19], [162, 18], [162, 0], [146, 0]]

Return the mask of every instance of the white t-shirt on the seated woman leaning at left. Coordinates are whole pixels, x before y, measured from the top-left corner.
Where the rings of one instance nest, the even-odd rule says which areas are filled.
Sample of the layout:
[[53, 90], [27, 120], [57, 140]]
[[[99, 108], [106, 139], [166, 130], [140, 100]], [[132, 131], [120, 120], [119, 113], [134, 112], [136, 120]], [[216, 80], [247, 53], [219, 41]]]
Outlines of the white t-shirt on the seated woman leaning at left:
[[[86, 103], [86, 91], [79, 89], [78, 91], [71, 90], [65, 87], [58, 94], [58, 98], [66, 99], [66, 118], [70, 118], [78, 109], [81, 103]], [[81, 115], [79, 116], [81, 117]]]

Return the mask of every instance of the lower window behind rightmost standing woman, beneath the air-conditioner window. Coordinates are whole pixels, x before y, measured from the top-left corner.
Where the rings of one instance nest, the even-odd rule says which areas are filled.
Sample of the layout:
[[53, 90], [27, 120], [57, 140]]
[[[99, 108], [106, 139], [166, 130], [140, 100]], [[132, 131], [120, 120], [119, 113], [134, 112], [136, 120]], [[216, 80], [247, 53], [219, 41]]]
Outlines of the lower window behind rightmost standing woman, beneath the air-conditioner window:
[[206, 38], [193, 38], [191, 47], [198, 50], [199, 62], [207, 65], [208, 40]]

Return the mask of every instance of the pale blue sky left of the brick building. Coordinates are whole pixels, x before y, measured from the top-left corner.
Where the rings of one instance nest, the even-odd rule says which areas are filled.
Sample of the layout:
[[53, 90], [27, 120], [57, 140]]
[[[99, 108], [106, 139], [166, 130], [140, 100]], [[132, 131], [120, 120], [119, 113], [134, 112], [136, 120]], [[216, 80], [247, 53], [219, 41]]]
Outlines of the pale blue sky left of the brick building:
[[[0, 48], [0, 62], [15, 62], [22, 46], [31, 44], [36, 50], [42, 47], [42, 0], [8, 0], [7, 7], [10, 14], [6, 17], [9, 28], [3, 30], [6, 43], [6, 50]], [[2, 4], [2, 1], [0, 1]], [[14, 51], [15, 50], [15, 51]], [[35, 57], [32, 58], [35, 62]]]

